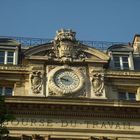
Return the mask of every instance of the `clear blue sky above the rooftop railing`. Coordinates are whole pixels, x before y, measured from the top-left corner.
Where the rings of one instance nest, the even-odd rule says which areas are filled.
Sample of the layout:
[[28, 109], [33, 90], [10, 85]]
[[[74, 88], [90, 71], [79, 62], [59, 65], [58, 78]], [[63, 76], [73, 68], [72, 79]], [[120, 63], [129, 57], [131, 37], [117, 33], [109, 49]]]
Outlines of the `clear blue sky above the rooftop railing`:
[[0, 0], [0, 36], [132, 42], [140, 34], [140, 0]]

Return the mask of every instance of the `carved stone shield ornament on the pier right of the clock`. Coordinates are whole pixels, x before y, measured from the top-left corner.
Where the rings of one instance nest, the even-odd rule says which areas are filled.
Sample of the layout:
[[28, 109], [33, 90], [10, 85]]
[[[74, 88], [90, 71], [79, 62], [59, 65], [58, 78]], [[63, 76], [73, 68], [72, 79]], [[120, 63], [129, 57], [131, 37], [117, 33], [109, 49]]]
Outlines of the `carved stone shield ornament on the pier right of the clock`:
[[92, 77], [93, 92], [96, 96], [102, 96], [104, 89], [104, 75], [94, 74]]

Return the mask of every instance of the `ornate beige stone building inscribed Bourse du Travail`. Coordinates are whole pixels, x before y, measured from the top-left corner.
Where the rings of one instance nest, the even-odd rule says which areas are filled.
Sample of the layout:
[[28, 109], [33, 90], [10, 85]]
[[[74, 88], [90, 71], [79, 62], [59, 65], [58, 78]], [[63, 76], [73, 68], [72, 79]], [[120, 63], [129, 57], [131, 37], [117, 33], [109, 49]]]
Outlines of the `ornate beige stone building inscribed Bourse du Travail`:
[[[96, 47], [96, 46], [95, 46]], [[59, 30], [23, 47], [0, 38], [9, 140], [139, 140], [140, 35], [101, 51]]]

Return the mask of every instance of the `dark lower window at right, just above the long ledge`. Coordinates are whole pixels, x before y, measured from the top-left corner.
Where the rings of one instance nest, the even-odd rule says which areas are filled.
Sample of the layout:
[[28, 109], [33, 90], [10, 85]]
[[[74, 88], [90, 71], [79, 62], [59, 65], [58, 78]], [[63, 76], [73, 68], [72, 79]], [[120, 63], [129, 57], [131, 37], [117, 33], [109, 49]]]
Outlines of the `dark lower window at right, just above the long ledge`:
[[118, 99], [120, 100], [136, 100], [136, 94], [131, 92], [119, 92]]

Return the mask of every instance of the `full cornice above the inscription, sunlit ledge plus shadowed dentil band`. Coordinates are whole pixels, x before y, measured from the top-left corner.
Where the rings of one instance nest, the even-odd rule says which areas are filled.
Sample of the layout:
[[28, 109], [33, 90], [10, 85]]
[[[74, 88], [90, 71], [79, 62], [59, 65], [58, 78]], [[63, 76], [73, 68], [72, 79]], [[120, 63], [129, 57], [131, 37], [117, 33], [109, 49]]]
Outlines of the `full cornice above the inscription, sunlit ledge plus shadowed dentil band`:
[[8, 110], [18, 116], [70, 118], [140, 118], [140, 102], [60, 98], [6, 98]]

